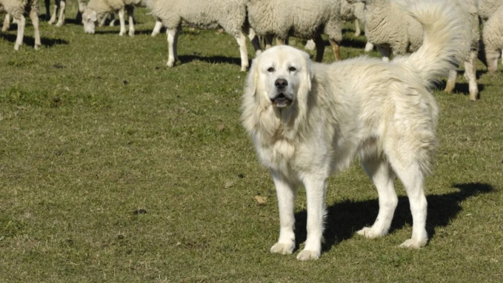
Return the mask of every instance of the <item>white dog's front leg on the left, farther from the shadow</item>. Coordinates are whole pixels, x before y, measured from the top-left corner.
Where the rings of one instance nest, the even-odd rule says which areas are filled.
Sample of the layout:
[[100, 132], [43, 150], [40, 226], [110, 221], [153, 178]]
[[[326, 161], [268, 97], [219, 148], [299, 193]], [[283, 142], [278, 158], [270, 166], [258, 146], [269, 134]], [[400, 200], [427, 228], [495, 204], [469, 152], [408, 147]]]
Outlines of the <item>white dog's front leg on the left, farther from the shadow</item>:
[[280, 214], [280, 237], [278, 242], [271, 247], [271, 252], [291, 254], [295, 249], [295, 216], [293, 214], [297, 184], [289, 181], [283, 174], [271, 170]]

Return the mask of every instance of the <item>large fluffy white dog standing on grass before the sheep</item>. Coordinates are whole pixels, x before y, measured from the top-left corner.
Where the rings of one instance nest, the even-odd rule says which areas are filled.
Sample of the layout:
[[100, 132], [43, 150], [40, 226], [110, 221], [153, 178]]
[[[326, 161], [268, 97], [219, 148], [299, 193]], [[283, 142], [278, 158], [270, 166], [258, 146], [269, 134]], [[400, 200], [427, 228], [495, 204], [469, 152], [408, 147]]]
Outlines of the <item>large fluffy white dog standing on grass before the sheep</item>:
[[320, 256], [326, 180], [357, 156], [379, 194], [374, 225], [358, 234], [374, 238], [388, 232], [398, 202], [397, 176], [413, 220], [412, 237], [402, 246], [427, 244], [424, 187], [434, 163], [438, 116], [429, 88], [454, 68], [454, 54], [469, 44], [464, 36], [468, 25], [447, 2], [409, 7], [424, 24], [423, 46], [389, 63], [368, 57], [312, 63], [307, 53], [289, 46], [270, 48], [254, 60], [242, 120], [276, 186], [280, 235], [271, 252], [295, 249], [294, 201], [303, 185], [307, 239], [297, 259]]

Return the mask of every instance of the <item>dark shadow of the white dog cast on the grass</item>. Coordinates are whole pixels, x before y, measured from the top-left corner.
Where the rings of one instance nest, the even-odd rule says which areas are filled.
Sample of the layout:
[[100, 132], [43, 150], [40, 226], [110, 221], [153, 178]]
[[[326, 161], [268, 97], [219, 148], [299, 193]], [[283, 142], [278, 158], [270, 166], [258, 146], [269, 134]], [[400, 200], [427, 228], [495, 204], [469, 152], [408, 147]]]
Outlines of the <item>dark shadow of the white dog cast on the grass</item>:
[[[450, 221], [462, 210], [461, 202], [465, 199], [481, 194], [490, 193], [494, 188], [484, 183], [453, 184], [457, 192], [427, 195], [428, 219], [427, 231], [429, 238], [435, 235], [437, 227], [449, 225]], [[334, 245], [350, 239], [355, 232], [363, 227], [372, 226], [379, 211], [379, 202], [376, 199], [366, 201], [345, 200], [327, 207], [327, 218], [325, 231], [323, 233], [323, 251], [330, 250]], [[305, 210], [295, 215], [296, 246], [306, 240], [306, 218]], [[406, 196], [398, 197], [393, 222], [389, 233], [402, 228], [405, 225], [412, 225], [409, 202]]]

